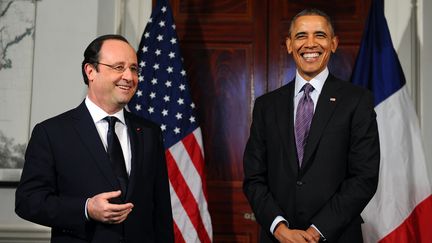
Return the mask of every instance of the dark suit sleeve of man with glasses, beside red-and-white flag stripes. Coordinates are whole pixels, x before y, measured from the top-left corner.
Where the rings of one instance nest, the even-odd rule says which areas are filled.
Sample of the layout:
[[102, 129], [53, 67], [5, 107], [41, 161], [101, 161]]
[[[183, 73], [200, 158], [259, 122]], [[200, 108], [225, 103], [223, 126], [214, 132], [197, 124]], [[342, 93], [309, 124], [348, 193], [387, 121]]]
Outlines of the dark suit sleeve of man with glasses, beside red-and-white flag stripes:
[[169, 190], [169, 179], [167, 172], [167, 162], [165, 161], [165, 151], [162, 142], [162, 134], [158, 133], [157, 138], [157, 165], [156, 165], [156, 176], [155, 176], [155, 214], [154, 214], [154, 226], [156, 230], [157, 242], [174, 242], [174, 229], [173, 229], [173, 216], [171, 210], [170, 190]]

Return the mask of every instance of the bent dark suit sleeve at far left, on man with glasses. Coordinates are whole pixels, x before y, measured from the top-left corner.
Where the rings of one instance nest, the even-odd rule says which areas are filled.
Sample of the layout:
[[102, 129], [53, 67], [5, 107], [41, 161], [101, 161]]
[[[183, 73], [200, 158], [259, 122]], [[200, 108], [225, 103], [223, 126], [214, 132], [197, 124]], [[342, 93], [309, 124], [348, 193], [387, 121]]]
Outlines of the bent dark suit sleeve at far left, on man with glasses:
[[38, 124], [33, 129], [26, 150], [15, 194], [15, 212], [34, 223], [85, 237], [86, 198], [59, 196], [54, 162], [50, 138], [44, 126]]

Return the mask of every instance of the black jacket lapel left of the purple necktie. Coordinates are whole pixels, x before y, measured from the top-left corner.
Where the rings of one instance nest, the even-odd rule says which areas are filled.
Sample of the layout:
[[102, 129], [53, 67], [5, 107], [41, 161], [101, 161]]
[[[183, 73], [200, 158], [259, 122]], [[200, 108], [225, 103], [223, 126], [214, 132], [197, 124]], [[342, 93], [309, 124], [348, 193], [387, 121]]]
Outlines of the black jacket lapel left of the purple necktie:
[[295, 147], [294, 135], [294, 81], [291, 81], [280, 92], [280, 97], [276, 103], [276, 117], [278, 129], [281, 134], [283, 151], [287, 161], [284, 165], [289, 165], [288, 169], [298, 172], [297, 150]]

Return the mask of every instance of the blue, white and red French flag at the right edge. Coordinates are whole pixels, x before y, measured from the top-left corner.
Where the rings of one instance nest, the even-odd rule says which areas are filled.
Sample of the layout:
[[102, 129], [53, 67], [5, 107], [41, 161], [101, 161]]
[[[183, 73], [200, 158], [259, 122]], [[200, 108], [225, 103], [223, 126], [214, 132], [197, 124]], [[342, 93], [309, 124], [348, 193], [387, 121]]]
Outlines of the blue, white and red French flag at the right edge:
[[419, 122], [384, 17], [373, 0], [351, 81], [375, 97], [378, 190], [362, 213], [365, 242], [432, 242], [432, 186]]

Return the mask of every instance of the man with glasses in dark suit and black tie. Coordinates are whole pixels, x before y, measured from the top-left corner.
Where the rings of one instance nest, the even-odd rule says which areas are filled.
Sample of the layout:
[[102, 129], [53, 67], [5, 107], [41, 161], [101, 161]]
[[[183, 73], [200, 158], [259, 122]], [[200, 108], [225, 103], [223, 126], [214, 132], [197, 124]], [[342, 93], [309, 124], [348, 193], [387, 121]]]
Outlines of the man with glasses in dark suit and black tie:
[[51, 227], [51, 242], [173, 242], [161, 131], [124, 109], [138, 83], [134, 49], [98, 37], [82, 72], [85, 100], [33, 129], [16, 213]]

